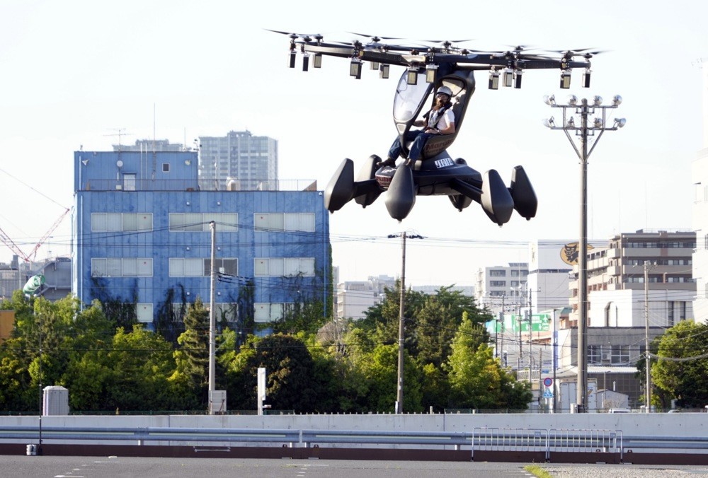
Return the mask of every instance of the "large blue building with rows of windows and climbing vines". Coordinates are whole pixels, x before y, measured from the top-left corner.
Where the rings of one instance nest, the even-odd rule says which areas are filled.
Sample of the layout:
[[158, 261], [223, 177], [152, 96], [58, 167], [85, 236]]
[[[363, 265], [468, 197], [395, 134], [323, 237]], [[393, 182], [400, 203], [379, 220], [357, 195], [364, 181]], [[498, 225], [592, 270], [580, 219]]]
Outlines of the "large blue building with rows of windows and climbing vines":
[[[270, 322], [331, 300], [329, 213], [314, 182], [202, 187], [196, 151], [76, 151], [72, 292], [135, 304], [139, 322], [180, 321], [211, 291], [220, 319]], [[213, 179], [210, 179], [213, 182]]]

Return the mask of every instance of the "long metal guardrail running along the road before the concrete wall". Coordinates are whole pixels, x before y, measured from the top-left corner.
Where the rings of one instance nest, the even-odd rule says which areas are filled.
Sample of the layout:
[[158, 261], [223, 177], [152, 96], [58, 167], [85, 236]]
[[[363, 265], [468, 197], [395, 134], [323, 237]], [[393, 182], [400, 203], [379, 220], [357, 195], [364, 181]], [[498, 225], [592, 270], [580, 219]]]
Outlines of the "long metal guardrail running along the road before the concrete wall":
[[[40, 439], [38, 426], [0, 426], [0, 441], [30, 443]], [[98, 428], [45, 426], [42, 441], [62, 442], [150, 442], [245, 443], [257, 445], [280, 443], [282, 446], [310, 448], [321, 444], [434, 445], [475, 451], [543, 453], [546, 460], [553, 453], [619, 453], [625, 450], [671, 449], [704, 450], [708, 436], [624, 436], [621, 430], [595, 429], [502, 429], [476, 427], [469, 432], [446, 431], [370, 431], [306, 429], [205, 429], [205, 428]]]

